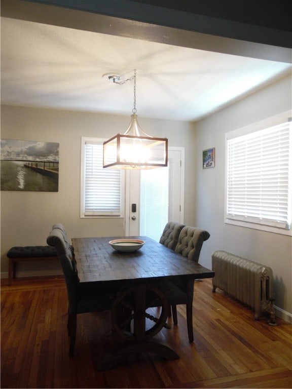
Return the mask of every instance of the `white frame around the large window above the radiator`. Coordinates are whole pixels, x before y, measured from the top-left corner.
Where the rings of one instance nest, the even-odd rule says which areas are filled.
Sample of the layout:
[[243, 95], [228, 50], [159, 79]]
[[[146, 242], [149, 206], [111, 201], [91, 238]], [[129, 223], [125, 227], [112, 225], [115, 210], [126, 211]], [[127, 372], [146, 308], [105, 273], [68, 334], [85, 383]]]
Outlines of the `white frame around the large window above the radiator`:
[[[228, 197], [228, 140], [234, 139], [237, 137], [241, 137], [243, 135], [251, 134], [254, 132], [258, 132], [264, 129], [268, 129], [277, 125], [281, 125], [287, 121], [290, 121], [291, 111], [285, 111], [278, 115], [272, 116], [266, 120], [261, 122], [253, 123], [249, 126], [236, 129], [229, 133], [225, 134], [225, 209], [224, 209], [224, 222], [226, 224], [232, 224], [252, 229], [258, 229], [268, 232], [273, 232], [275, 234], [288, 235], [292, 236], [292, 215], [291, 215], [291, 207], [292, 207], [292, 179], [291, 175], [288, 177], [288, 207], [290, 211], [290, 220], [288, 221], [290, 224], [289, 229], [280, 228], [277, 226], [265, 225], [265, 224], [257, 224], [255, 222], [245, 221], [245, 220], [237, 220], [230, 218], [227, 214], [227, 197]], [[292, 135], [291, 135], [292, 136]], [[292, 144], [292, 138], [290, 138], [290, 143]], [[289, 164], [290, 170], [292, 170], [292, 146], [289, 152]]]

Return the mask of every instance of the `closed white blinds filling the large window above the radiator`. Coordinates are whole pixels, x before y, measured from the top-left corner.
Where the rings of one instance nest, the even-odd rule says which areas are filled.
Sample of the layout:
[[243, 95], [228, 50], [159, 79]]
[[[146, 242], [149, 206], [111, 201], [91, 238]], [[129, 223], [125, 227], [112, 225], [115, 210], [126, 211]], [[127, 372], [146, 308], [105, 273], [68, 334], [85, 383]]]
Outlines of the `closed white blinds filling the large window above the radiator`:
[[226, 223], [291, 235], [291, 130], [227, 134]]

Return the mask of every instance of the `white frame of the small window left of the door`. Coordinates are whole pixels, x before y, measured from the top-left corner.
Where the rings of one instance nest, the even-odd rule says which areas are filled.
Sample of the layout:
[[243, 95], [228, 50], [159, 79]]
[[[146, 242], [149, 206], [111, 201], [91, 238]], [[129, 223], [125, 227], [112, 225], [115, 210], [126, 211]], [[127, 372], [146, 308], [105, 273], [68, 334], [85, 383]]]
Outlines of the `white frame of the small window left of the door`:
[[[121, 207], [119, 214], [85, 214], [85, 146], [87, 142], [102, 145], [105, 138], [81, 137], [81, 164], [80, 164], [80, 218], [82, 219], [96, 219], [96, 218], [110, 218], [120, 219], [125, 217], [125, 172], [121, 170]], [[107, 168], [108, 169], [108, 168]]]

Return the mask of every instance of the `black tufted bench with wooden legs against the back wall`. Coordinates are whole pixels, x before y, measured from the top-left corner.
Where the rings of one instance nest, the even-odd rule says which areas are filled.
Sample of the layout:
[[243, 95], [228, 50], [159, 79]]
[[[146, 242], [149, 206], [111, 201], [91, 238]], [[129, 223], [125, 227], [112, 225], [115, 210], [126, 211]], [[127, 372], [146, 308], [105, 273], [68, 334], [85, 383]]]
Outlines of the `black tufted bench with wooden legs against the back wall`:
[[8, 251], [7, 256], [9, 258], [8, 285], [11, 285], [12, 278], [15, 278], [16, 262], [58, 259], [55, 248], [51, 246], [15, 246]]

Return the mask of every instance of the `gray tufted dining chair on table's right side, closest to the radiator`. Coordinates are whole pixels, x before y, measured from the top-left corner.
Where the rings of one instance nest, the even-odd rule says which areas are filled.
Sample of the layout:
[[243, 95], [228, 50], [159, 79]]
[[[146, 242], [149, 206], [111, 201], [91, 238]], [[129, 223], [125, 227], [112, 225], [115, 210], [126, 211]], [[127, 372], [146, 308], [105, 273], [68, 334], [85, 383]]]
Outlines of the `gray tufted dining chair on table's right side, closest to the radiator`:
[[[201, 248], [203, 246], [204, 241], [209, 239], [210, 234], [208, 231], [197, 227], [185, 226], [181, 229], [178, 243], [175, 247], [175, 252], [183, 255], [184, 257], [198, 262], [199, 256], [201, 252]], [[176, 284], [179, 288], [181, 288], [185, 292], [184, 301], [180, 301], [179, 303], [171, 303], [172, 310], [172, 320], [174, 324], [177, 324], [177, 312], [176, 305], [178, 304], [186, 304], [187, 310], [187, 326], [188, 326], [188, 335], [189, 340], [192, 342], [194, 340], [193, 334], [193, 296], [194, 296], [194, 280], [190, 280], [188, 283], [184, 284]]]

